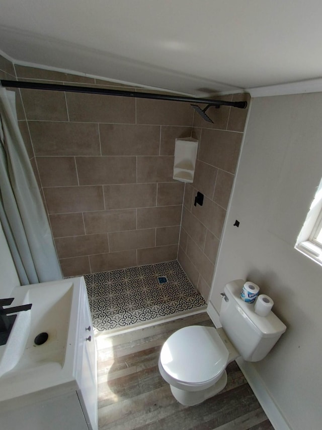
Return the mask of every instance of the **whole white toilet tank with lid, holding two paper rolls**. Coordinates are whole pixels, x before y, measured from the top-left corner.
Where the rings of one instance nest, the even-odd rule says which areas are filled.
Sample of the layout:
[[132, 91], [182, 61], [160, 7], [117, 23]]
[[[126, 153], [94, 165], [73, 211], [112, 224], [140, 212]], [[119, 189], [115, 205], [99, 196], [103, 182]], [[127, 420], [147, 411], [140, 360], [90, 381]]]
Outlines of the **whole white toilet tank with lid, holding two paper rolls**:
[[246, 281], [238, 279], [224, 287], [220, 322], [229, 340], [246, 361], [262, 360], [273, 348], [286, 326], [271, 311], [267, 317], [255, 313], [254, 303], [246, 303], [240, 292]]

